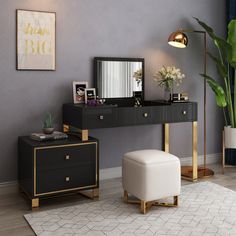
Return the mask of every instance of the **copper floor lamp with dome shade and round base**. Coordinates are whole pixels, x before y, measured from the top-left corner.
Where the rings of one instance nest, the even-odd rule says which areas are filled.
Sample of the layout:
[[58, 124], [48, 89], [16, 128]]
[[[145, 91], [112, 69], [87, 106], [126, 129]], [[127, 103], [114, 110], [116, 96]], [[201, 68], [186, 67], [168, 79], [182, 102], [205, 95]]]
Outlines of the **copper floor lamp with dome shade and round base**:
[[[197, 33], [203, 35], [204, 39], [204, 74], [206, 74], [207, 71], [207, 47], [206, 47], [206, 32], [200, 31], [200, 30], [177, 30], [168, 38], [168, 43], [177, 48], [186, 48], [188, 45], [188, 37], [185, 33]], [[207, 139], [207, 133], [206, 133], [206, 80], [204, 79], [204, 165], [203, 167], [198, 167], [198, 178], [204, 178], [204, 177], [210, 177], [214, 175], [214, 172], [206, 167], [206, 139]], [[192, 177], [192, 167], [185, 166], [182, 167], [182, 176], [185, 177]]]

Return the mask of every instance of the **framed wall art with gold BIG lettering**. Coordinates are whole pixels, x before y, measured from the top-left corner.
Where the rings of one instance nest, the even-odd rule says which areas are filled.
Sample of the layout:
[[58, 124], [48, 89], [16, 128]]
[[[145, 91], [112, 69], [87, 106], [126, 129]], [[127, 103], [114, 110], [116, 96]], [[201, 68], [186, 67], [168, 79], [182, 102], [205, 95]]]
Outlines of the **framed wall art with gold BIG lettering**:
[[56, 13], [16, 11], [16, 69], [56, 70]]

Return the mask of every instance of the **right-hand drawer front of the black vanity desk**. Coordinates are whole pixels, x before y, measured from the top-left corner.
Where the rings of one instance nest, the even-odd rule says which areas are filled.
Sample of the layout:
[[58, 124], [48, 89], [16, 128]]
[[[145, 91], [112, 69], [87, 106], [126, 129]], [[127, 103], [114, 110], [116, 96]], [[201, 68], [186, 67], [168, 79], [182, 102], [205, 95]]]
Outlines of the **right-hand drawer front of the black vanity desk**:
[[169, 122], [193, 121], [193, 107], [191, 103], [171, 104], [167, 109]]

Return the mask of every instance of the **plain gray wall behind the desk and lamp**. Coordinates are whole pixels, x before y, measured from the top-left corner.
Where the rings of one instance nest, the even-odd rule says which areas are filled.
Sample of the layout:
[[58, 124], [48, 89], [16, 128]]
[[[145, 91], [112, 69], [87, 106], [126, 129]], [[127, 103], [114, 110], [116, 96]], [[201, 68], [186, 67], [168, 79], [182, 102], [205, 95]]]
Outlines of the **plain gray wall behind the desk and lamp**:
[[[182, 91], [199, 102], [199, 154], [203, 152], [202, 39], [190, 37], [185, 50], [171, 48], [167, 38], [176, 28], [199, 28], [193, 16], [224, 35], [225, 1], [218, 0], [1, 0], [0, 8], [0, 182], [17, 178], [17, 137], [41, 129], [47, 111], [61, 126], [62, 104], [72, 101], [73, 80], [92, 86], [94, 56], [145, 57], [146, 99], [160, 99], [153, 73], [162, 65], [179, 66], [186, 74]], [[15, 70], [15, 10], [57, 13], [55, 72]], [[209, 44], [211, 47], [212, 45]], [[214, 75], [212, 64], [209, 71]], [[221, 113], [208, 93], [207, 153], [220, 152]], [[173, 129], [172, 129], [173, 128]], [[124, 152], [161, 148], [161, 126], [101, 129], [100, 167], [121, 164]], [[171, 125], [171, 152], [191, 156], [191, 124]]]

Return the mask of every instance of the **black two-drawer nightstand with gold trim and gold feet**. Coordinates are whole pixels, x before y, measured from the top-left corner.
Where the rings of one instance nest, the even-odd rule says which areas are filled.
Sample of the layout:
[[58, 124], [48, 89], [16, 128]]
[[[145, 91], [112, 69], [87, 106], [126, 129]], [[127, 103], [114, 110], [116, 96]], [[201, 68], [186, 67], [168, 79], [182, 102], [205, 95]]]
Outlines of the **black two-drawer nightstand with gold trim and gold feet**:
[[55, 141], [18, 140], [20, 189], [30, 198], [32, 208], [43, 197], [92, 190], [99, 196], [98, 140], [78, 137]]

